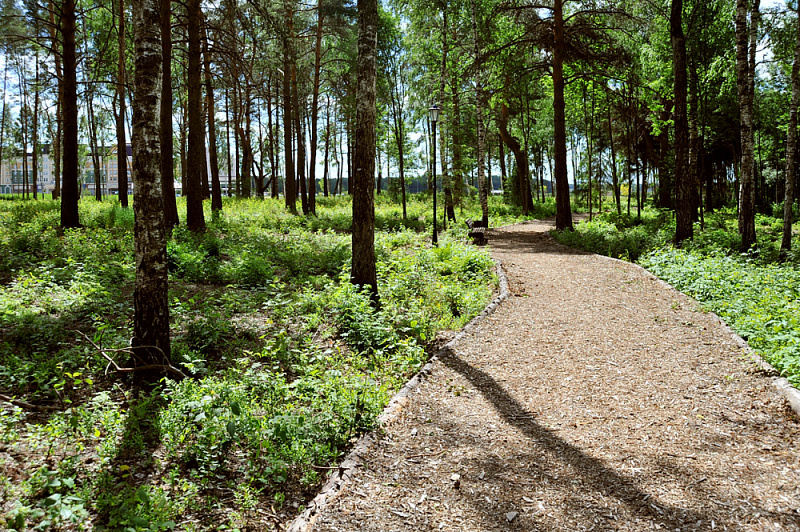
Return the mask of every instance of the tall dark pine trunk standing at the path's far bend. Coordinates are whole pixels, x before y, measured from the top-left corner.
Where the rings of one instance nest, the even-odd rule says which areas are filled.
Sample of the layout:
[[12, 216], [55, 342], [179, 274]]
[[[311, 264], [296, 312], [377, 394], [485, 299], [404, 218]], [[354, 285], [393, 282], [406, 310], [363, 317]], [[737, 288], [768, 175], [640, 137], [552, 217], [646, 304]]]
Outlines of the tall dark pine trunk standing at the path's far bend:
[[564, 105], [564, 3], [553, 2], [553, 149], [555, 152], [556, 229], [572, 229], [567, 180], [567, 127]]

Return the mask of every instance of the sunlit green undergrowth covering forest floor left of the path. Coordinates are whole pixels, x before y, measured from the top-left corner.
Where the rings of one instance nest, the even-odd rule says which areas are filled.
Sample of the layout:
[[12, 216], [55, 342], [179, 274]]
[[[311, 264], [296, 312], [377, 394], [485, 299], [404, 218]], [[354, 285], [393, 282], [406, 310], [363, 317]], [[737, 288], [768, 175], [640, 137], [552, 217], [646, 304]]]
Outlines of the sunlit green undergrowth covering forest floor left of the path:
[[188, 378], [152, 390], [107, 358], [129, 363], [132, 210], [84, 200], [84, 227], [61, 231], [57, 202], [0, 203], [0, 389], [55, 409], [0, 403], [0, 467], [15, 472], [0, 476], [0, 526], [241, 530], [302, 509], [437, 333], [496, 288], [463, 222], [431, 248], [429, 201], [405, 221], [383, 201], [379, 309], [349, 282], [346, 198], [320, 199], [316, 218], [226, 199], [205, 233], [175, 229], [172, 359]]

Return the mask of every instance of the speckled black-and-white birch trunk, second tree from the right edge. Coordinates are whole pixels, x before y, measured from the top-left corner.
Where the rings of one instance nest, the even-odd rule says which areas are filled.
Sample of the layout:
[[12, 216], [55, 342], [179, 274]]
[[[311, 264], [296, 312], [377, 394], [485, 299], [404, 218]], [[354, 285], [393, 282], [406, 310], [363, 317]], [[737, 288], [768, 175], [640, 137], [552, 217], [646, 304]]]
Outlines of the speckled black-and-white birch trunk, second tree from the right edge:
[[[752, 91], [754, 72], [750, 63], [754, 62], [755, 58], [759, 0], [753, 0], [749, 31], [747, 4], [747, 0], [736, 2], [736, 88], [739, 96], [742, 143], [739, 165], [739, 235], [742, 238], [743, 252], [748, 251], [756, 243]], [[753, 61], [750, 60], [751, 54]]]

